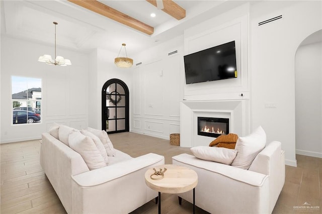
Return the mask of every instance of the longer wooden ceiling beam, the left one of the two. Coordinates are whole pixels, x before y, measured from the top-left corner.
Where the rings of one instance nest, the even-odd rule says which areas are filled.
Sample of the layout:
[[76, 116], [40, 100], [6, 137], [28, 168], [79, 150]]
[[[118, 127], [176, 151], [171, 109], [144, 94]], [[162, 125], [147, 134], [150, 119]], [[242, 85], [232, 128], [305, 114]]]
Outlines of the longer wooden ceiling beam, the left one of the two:
[[122, 23], [131, 28], [134, 28], [145, 34], [148, 34], [148, 35], [153, 34], [153, 31], [154, 31], [153, 27], [145, 23], [142, 23], [126, 14], [123, 14], [107, 5], [104, 5], [103, 3], [100, 3], [96, 0], [68, 0], [68, 1], [78, 6], [81, 6], [83, 8], [86, 8], [90, 11], [93, 11], [95, 13], [98, 13], [102, 16], [110, 18], [116, 22]]

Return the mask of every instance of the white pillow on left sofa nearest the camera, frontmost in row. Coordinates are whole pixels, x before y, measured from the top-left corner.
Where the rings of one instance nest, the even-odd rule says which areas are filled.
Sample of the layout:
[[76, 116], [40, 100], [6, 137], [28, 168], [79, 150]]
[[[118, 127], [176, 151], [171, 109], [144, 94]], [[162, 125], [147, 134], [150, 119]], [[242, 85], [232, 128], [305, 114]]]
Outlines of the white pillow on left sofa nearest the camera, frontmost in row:
[[90, 170], [99, 169], [106, 166], [103, 156], [97, 149], [92, 138], [80, 132], [73, 132], [69, 135], [69, 146], [78, 152]]

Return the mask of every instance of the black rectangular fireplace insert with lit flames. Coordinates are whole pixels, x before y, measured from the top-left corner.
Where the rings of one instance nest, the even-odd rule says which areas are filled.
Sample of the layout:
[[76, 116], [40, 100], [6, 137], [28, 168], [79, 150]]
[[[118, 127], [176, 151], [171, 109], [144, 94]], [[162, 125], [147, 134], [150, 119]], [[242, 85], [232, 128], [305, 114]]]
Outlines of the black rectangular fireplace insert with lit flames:
[[198, 117], [198, 135], [216, 138], [227, 134], [229, 134], [228, 118]]

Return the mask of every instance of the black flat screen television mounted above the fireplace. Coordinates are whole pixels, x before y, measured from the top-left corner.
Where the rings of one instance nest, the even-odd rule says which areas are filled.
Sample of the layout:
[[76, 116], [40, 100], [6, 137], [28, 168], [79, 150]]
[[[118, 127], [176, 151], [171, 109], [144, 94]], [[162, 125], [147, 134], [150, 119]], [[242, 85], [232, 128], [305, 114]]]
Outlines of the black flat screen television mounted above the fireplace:
[[237, 77], [235, 41], [184, 56], [186, 84]]

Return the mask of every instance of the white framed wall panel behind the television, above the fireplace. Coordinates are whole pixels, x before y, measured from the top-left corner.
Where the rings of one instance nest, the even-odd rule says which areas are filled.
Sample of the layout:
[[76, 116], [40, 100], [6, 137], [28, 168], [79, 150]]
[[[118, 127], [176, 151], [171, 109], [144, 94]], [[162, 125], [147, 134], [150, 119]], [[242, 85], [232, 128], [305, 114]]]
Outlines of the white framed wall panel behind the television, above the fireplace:
[[[248, 26], [249, 4], [245, 4], [185, 30], [185, 55], [235, 41], [238, 73], [237, 78], [185, 84], [185, 99], [241, 99], [248, 96]], [[245, 96], [241, 97], [241, 93]]]

